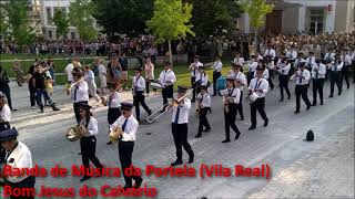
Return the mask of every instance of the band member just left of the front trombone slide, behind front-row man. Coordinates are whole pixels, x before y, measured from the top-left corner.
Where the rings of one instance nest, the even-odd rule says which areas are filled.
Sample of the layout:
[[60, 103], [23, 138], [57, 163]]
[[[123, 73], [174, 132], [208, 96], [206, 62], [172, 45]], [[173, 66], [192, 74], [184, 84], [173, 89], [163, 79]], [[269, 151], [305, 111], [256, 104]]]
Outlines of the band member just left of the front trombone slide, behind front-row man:
[[142, 70], [136, 69], [135, 76], [133, 77], [133, 82], [132, 82], [133, 104], [135, 107], [135, 117], [136, 117], [136, 121], [139, 122], [141, 121], [140, 104], [143, 106], [148, 115], [152, 114], [152, 111], [145, 104], [145, 96], [144, 96], [145, 81], [144, 81], [144, 77], [141, 76], [141, 73], [142, 73]]

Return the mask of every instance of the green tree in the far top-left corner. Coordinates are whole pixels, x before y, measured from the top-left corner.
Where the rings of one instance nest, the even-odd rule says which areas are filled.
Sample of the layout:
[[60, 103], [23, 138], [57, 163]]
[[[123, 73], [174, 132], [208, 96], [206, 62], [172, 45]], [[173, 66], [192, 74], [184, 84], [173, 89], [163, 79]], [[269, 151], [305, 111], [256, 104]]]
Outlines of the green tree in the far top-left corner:
[[22, 49], [34, 42], [34, 29], [28, 23], [29, 4], [27, 0], [7, 0], [9, 33], [13, 41]]

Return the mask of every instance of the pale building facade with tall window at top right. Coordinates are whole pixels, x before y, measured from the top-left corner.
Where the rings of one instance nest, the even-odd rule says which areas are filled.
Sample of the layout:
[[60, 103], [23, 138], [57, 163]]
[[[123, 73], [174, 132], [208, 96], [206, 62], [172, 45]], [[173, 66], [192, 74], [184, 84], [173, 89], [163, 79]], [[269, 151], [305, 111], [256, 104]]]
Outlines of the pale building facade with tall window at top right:
[[[262, 31], [274, 33], [347, 32], [355, 25], [355, 0], [273, 0], [274, 10]], [[240, 19], [242, 32], [254, 32], [246, 13]]]

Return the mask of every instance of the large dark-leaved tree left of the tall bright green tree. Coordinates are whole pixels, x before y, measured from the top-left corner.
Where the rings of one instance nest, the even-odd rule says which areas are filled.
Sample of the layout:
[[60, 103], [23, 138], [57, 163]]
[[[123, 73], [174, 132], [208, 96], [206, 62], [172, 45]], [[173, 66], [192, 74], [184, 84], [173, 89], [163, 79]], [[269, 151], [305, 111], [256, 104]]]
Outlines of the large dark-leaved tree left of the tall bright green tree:
[[109, 39], [115, 34], [144, 33], [145, 21], [152, 18], [153, 0], [92, 0], [98, 20]]

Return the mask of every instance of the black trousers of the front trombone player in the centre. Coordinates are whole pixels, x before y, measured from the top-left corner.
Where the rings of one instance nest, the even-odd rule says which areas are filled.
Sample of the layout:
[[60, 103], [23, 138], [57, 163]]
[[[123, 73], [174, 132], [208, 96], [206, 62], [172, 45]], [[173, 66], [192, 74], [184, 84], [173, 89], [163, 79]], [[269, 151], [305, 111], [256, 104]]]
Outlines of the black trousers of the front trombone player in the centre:
[[193, 157], [194, 154], [187, 142], [187, 123], [184, 123], [184, 124], [172, 123], [171, 128], [174, 137], [175, 148], [176, 148], [176, 160], [182, 161], [182, 147], [184, 147], [184, 149], [189, 154], [189, 157]]

